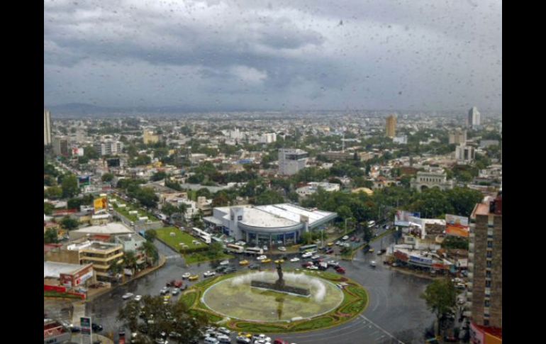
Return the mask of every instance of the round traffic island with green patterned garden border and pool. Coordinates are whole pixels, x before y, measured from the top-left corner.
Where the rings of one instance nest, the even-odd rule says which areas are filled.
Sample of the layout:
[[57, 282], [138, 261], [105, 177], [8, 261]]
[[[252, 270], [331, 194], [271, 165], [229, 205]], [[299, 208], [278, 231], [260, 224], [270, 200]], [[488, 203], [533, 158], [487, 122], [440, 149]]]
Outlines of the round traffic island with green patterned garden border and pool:
[[245, 272], [206, 279], [188, 289], [179, 301], [191, 312], [235, 331], [289, 333], [338, 326], [366, 308], [368, 295], [356, 282], [329, 272], [291, 271], [286, 284], [310, 289], [309, 296], [250, 286], [258, 279], [274, 282], [277, 274]]

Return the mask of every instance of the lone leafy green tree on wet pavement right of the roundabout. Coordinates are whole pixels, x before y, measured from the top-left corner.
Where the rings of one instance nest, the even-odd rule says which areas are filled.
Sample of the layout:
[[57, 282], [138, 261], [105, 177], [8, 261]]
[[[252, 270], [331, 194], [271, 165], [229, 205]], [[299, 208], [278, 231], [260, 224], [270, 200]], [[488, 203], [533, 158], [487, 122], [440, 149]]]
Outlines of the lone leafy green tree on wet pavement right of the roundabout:
[[455, 309], [457, 290], [451, 279], [436, 279], [428, 285], [420, 297], [425, 300], [428, 309], [436, 315], [440, 328], [441, 319]]

